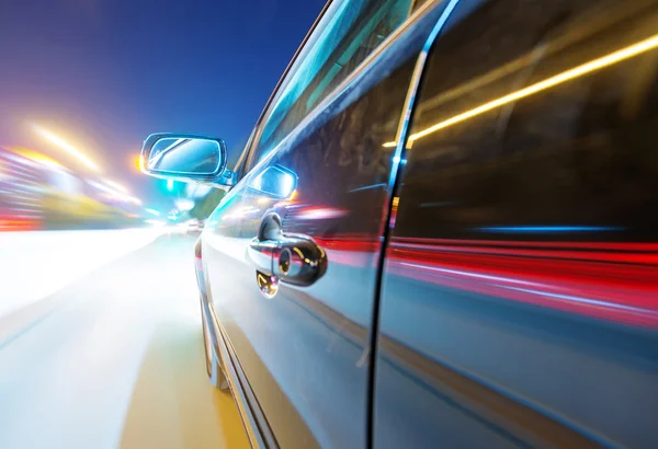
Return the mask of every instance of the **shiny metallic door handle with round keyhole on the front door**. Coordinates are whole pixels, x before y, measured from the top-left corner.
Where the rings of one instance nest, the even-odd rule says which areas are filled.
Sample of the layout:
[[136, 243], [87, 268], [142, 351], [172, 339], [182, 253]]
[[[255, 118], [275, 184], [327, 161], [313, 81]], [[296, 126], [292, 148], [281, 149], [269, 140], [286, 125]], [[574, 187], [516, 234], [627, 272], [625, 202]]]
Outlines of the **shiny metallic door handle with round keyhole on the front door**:
[[248, 258], [262, 274], [296, 286], [309, 286], [327, 270], [325, 250], [307, 235], [284, 234], [279, 216], [263, 219], [259, 235], [249, 244]]

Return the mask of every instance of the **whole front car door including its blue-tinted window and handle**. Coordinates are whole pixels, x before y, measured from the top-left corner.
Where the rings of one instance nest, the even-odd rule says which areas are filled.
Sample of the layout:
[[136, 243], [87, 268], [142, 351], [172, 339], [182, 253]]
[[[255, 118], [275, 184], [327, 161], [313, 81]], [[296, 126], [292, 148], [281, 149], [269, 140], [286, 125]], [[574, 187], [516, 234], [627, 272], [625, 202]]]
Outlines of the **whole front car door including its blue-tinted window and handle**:
[[[386, 143], [443, 7], [333, 2], [259, 124], [246, 176], [208, 219], [212, 303], [282, 447], [366, 446]], [[308, 276], [283, 274], [284, 250]]]

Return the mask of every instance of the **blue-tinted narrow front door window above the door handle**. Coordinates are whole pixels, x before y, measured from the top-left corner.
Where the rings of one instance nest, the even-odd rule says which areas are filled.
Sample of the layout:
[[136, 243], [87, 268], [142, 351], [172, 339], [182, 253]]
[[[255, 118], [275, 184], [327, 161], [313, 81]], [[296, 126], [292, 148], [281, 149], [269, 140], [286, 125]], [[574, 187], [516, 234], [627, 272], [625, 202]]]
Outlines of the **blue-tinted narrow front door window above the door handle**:
[[251, 168], [409, 15], [413, 0], [333, 1], [273, 99]]

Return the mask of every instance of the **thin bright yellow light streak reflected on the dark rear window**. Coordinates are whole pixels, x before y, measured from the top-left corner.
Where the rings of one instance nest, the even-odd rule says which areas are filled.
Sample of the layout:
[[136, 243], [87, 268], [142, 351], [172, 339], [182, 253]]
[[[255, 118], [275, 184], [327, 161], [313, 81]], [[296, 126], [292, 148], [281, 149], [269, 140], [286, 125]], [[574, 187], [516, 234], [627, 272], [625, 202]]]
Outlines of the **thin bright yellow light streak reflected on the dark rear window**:
[[[409, 136], [409, 141], [418, 140], [422, 137], [426, 137], [438, 130], [447, 128], [449, 126], [455, 125], [460, 122], [467, 120], [469, 118], [473, 118], [477, 115], [484, 114], [488, 111], [495, 110], [495, 108], [506, 105], [508, 103], [515, 102], [517, 100], [521, 100], [525, 96], [534, 95], [535, 93], [545, 91], [547, 89], [551, 89], [553, 87], [556, 87], [558, 84], [561, 84], [564, 82], [572, 80], [575, 78], [582, 77], [585, 74], [603, 69], [613, 64], [621, 62], [625, 59], [640, 55], [640, 54], [651, 50], [656, 47], [658, 47], [658, 35], [654, 35], [647, 39], [640, 41], [628, 47], [622, 48], [617, 51], [614, 51], [609, 55], [602, 56], [600, 58], [593, 59], [581, 66], [566, 70], [561, 73], [555, 74], [543, 81], [540, 81], [537, 83], [529, 85], [527, 88], [518, 90], [515, 92], [509, 93], [499, 99], [492, 100], [488, 103], [485, 103], [483, 105], [474, 107], [473, 110], [454, 115], [454, 116], [452, 116], [443, 122], [440, 122], [435, 125], [432, 125], [421, 131], [412, 134], [411, 136]], [[385, 148], [392, 148], [392, 147], [395, 147], [395, 142], [386, 142], [383, 146]]]

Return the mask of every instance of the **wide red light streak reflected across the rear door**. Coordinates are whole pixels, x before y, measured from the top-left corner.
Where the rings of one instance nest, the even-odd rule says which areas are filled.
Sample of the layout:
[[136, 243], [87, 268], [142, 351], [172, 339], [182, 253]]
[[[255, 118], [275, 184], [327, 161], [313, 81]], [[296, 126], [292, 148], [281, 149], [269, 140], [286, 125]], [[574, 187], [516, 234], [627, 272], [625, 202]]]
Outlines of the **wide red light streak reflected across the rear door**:
[[405, 277], [658, 329], [657, 245], [509, 243], [398, 239], [389, 264]]

